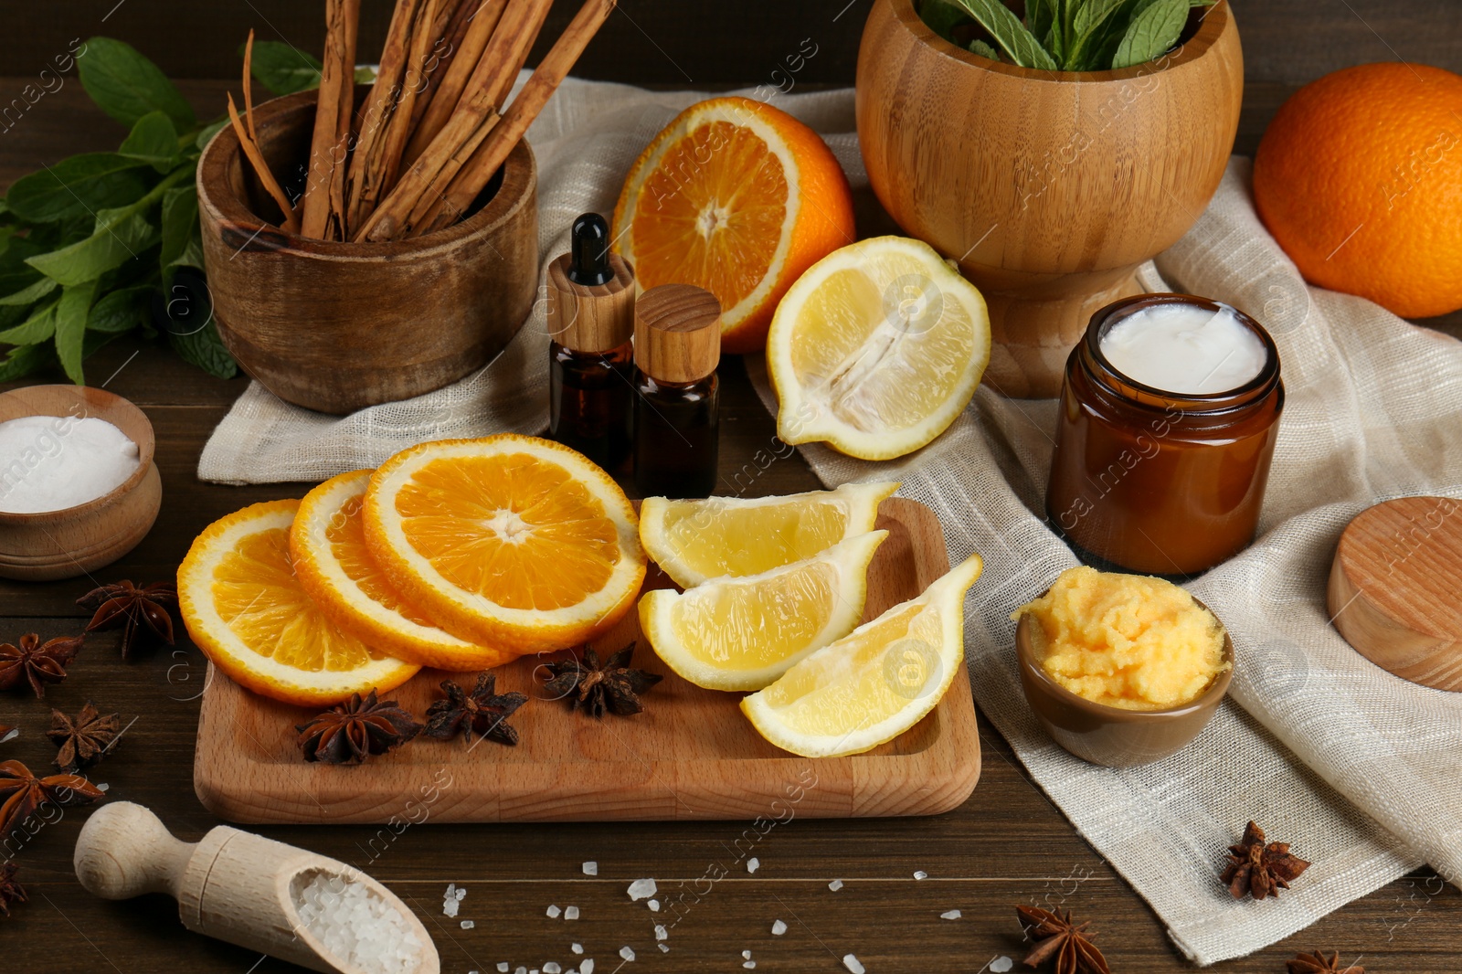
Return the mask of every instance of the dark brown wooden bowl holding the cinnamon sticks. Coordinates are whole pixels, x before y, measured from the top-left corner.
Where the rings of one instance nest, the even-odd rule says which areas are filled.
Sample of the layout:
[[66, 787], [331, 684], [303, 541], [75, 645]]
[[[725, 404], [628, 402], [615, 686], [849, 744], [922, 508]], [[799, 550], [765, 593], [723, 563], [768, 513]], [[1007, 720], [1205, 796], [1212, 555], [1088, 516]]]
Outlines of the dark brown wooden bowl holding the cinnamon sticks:
[[[370, 88], [357, 89], [363, 99]], [[314, 92], [254, 108], [259, 145], [288, 186], [308, 156]], [[414, 240], [288, 234], [224, 127], [197, 167], [203, 262], [218, 333], [244, 371], [322, 412], [408, 399], [485, 366], [538, 287], [538, 174], [519, 142], [462, 222]]]

